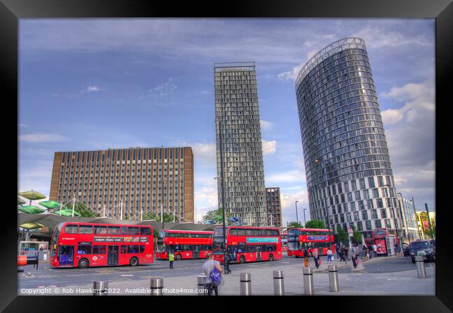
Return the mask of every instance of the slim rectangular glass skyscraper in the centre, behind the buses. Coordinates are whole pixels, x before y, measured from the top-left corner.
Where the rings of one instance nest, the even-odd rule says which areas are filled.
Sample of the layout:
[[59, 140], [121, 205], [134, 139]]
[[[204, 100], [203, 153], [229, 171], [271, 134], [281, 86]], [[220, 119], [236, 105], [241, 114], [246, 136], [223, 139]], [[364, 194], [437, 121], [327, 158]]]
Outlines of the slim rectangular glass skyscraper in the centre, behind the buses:
[[247, 225], [266, 225], [255, 63], [215, 63], [214, 84], [219, 207], [223, 176], [226, 212]]

